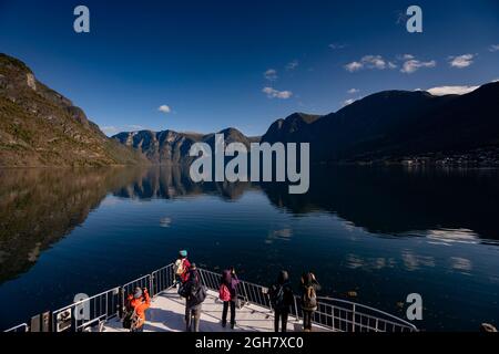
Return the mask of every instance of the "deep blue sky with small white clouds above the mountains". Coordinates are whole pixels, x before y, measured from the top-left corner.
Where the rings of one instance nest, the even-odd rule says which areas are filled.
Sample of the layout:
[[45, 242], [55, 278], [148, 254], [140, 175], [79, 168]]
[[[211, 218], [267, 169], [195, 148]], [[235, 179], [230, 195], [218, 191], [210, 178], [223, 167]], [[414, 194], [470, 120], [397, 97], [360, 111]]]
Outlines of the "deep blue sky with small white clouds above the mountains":
[[[73, 31], [78, 4], [90, 33]], [[406, 31], [410, 4], [422, 33]], [[293, 112], [326, 114], [383, 90], [499, 79], [499, 2], [0, 0], [0, 52], [106, 134], [261, 135]]]

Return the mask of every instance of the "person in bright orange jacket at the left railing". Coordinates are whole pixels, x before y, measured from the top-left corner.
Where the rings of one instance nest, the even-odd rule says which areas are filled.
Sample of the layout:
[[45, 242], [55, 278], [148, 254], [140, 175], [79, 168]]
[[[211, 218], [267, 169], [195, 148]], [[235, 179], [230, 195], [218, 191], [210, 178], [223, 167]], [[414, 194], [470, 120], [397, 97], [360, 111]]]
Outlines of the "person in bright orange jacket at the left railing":
[[143, 332], [145, 324], [145, 310], [151, 306], [147, 289], [135, 288], [133, 294], [126, 298], [123, 327], [130, 332]]

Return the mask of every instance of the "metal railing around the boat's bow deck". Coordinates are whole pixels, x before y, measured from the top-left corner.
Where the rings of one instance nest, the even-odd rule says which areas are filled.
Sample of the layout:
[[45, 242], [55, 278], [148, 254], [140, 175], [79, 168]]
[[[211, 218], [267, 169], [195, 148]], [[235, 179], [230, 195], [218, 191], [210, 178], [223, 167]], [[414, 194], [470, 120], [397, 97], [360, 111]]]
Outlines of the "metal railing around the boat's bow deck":
[[[198, 269], [202, 283], [212, 291], [218, 291], [221, 274]], [[53, 332], [83, 332], [100, 326], [108, 320], [118, 316], [125, 301], [125, 296], [135, 288], [146, 288], [151, 296], [174, 287], [175, 272], [173, 263], [143, 275], [122, 287], [118, 287], [91, 298], [82, 299], [68, 306], [52, 312]], [[240, 281], [238, 296], [242, 306], [255, 304], [272, 312], [268, 289], [252, 282]], [[397, 316], [384, 311], [361, 305], [355, 302], [317, 298], [317, 311], [313, 322], [324, 330], [335, 332], [415, 332], [417, 327]], [[294, 296], [289, 314], [295, 321], [301, 321], [301, 299]], [[6, 332], [28, 332], [26, 323], [7, 330]]]

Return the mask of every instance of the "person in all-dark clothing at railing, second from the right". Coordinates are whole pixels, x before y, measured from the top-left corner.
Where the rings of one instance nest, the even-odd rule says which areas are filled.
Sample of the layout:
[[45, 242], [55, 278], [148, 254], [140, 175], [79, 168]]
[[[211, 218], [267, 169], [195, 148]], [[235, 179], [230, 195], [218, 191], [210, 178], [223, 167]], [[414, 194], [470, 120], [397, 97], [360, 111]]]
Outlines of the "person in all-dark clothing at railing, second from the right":
[[277, 281], [268, 288], [268, 295], [271, 298], [272, 308], [274, 309], [274, 331], [279, 331], [281, 321], [281, 329], [283, 332], [286, 332], [289, 308], [294, 300], [287, 271], [282, 270], [279, 272]]

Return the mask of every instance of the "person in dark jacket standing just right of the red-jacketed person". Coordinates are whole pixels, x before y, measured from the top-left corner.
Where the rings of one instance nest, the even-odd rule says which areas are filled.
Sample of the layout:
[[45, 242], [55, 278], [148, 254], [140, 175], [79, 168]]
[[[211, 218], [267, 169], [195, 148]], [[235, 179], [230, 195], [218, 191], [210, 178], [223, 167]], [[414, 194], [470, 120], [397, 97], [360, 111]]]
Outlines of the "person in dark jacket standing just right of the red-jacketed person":
[[186, 293], [185, 330], [187, 332], [200, 332], [201, 310], [206, 299], [206, 288], [201, 283], [195, 263], [191, 266], [189, 280], [184, 284], [184, 289]]

